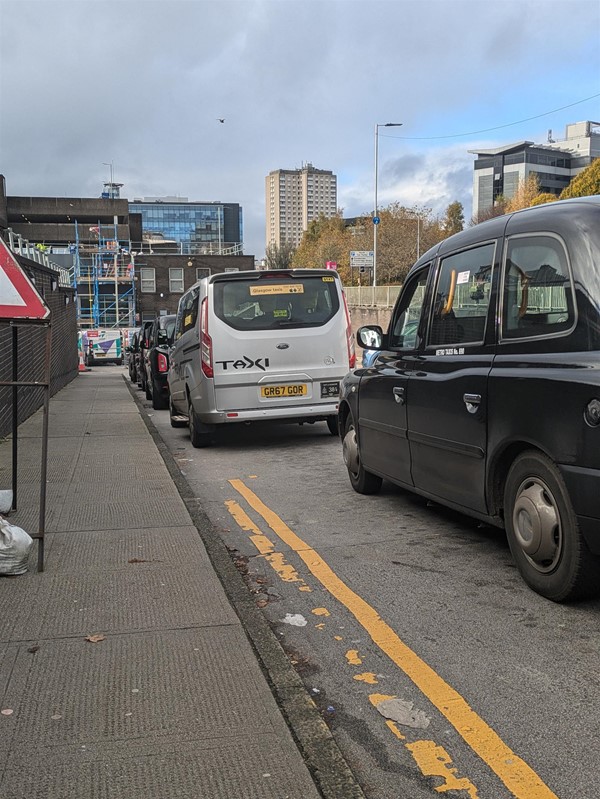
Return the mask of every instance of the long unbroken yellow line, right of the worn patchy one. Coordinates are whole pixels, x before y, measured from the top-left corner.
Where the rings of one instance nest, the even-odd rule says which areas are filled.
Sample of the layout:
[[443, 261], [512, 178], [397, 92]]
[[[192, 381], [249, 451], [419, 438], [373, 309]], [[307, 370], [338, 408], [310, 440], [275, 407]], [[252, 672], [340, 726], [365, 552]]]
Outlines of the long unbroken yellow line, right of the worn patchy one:
[[533, 769], [508, 747], [500, 736], [469, 706], [465, 699], [410, 649], [383, 621], [377, 611], [355, 594], [242, 480], [230, 480], [271, 530], [293, 549], [312, 574], [369, 633], [372, 640], [413, 681], [445, 716], [471, 749], [487, 763], [517, 799], [558, 799]]

